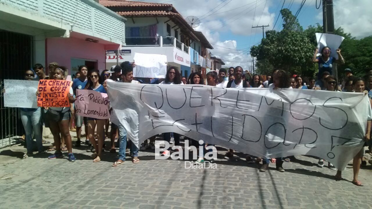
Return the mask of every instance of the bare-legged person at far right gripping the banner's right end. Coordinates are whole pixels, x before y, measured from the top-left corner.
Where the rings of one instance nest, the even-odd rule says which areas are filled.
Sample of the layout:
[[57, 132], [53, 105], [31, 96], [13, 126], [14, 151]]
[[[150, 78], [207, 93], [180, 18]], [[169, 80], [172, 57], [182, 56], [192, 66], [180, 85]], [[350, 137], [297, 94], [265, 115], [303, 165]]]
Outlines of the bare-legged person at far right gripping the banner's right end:
[[[352, 81], [352, 84], [353, 84], [353, 87], [354, 87], [354, 91], [355, 92], [365, 92], [365, 82], [362, 78], [355, 78], [353, 81]], [[365, 94], [367, 94], [365, 92]], [[368, 97], [369, 98], [369, 97]], [[368, 104], [368, 112], [367, 113], [367, 127], [366, 127], [366, 132], [365, 132], [365, 136], [364, 136], [364, 139], [366, 141], [369, 141], [370, 140], [370, 129], [371, 129], [371, 123], [372, 123], [372, 106], [371, 106], [371, 103], [372, 103], [372, 99], [369, 98], [369, 104]], [[353, 179], [352, 179], [352, 183], [354, 185], [357, 185], [357, 186], [363, 186], [363, 184], [361, 184], [361, 182], [358, 180], [358, 174], [359, 174], [359, 169], [360, 169], [360, 163], [361, 163], [361, 160], [363, 158], [363, 155], [364, 155], [364, 147], [361, 147], [360, 151], [354, 156], [354, 158], [352, 159], [352, 170], [353, 170]], [[342, 179], [341, 177], [341, 170], [337, 170], [337, 173], [336, 175], [334, 176], [336, 178], [336, 180], [340, 180]]]

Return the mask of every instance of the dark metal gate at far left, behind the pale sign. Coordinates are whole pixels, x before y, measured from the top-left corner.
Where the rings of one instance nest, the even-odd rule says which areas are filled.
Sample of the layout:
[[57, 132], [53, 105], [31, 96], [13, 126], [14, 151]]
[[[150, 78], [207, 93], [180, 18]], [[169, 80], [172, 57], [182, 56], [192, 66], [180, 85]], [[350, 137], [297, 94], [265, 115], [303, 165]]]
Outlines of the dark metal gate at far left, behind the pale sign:
[[[0, 30], [0, 89], [4, 79], [24, 79], [24, 70], [31, 66], [32, 37], [30, 35]], [[4, 107], [0, 103], [0, 148], [11, 145], [13, 139], [24, 133], [19, 108]]]

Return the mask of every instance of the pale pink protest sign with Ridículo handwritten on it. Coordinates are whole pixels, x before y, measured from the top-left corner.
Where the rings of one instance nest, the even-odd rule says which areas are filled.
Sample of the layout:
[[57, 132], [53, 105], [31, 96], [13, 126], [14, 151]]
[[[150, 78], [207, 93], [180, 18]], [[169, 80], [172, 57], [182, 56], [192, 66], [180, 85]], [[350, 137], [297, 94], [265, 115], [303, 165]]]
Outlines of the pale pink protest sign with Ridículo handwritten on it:
[[76, 89], [75, 111], [77, 115], [96, 119], [110, 118], [107, 93]]

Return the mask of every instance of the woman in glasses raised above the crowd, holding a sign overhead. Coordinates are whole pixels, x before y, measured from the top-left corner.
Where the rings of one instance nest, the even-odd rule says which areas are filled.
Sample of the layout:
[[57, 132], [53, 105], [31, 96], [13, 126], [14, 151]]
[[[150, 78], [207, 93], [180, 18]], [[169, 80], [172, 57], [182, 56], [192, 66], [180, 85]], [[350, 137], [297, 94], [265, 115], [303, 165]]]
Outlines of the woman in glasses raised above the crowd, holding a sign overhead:
[[344, 64], [345, 61], [343, 60], [343, 57], [341, 55], [341, 49], [337, 48], [336, 53], [338, 55], [338, 59], [335, 59], [333, 56], [331, 56], [331, 49], [328, 46], [324, 46], [320, 51], [320, 56], [316, 56], [318, 53], [318, 48], [315, 49], [315, 53], [312, 57], [313, 62], [318, 63], [318, 76], [317, 76], [317, 82], [321, 82], [321, 75], [323, 72], [327, 71], [329, 74], [332, 74], [332, 66], [333, 62], [337, 62], [339, 64]]

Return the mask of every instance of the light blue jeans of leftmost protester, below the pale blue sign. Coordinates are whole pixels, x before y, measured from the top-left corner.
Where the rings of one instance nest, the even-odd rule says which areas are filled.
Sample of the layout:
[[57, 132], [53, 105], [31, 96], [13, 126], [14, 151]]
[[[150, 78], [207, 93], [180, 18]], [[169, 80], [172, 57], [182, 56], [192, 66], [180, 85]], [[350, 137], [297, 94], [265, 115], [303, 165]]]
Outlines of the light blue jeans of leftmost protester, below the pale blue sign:
[[43, 151], [41, 136], [41, 110], [40, 107], [33, 111], [20, 110], [20, 119], [26, 132], [27, 153], [32, 153], [32, 131], [36, 139], [37, 150]]

